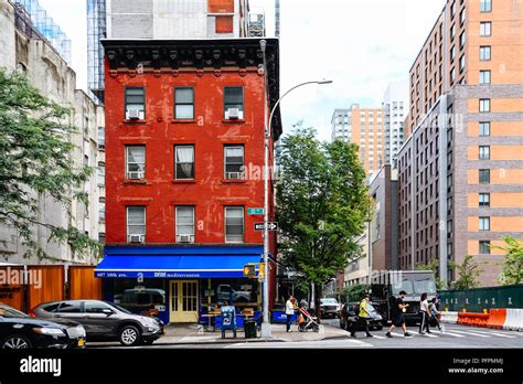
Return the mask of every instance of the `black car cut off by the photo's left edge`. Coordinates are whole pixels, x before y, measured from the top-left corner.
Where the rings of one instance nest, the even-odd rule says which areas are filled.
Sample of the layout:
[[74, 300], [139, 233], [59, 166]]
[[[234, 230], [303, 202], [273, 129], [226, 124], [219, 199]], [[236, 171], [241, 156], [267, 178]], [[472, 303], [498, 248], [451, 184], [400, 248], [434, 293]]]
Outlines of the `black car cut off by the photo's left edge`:
[[33, 319], [0, 302], [0, 349], [84, 348], [85, 329], [66, 319]]

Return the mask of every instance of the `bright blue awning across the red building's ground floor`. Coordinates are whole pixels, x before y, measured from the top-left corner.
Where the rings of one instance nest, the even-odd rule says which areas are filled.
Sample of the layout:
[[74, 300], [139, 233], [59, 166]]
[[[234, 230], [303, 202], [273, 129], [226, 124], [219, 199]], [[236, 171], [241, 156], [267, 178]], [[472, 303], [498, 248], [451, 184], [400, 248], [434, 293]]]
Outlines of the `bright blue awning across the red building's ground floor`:
[[106, 278], [234, 278], [260, 263], [260, 246], [106, 247], [95, 268]]

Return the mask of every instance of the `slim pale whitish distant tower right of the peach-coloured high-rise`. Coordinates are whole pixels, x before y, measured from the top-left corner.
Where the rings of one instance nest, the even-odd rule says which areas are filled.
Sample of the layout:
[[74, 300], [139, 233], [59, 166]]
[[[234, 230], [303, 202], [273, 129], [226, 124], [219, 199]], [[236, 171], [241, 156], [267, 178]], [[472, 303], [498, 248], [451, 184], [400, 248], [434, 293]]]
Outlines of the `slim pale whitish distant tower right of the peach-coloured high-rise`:
[[408, 83], [391, 82], [383, 97], [385, 110], [385, 163], [397, 168], [397, 152], [404, 142], [404, 122], [408, 114]]

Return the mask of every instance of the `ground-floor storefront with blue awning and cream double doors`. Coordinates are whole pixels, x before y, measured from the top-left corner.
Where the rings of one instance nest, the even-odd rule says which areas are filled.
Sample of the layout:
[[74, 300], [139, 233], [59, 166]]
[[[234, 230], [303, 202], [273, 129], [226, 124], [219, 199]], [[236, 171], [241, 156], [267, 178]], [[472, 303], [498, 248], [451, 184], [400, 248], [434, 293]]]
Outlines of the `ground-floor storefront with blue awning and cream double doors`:
[[260, 282], [243, 268], [262, 257], [260, 246], [107, 246], [95, 276], [104, 279], [105, 300], [132, 312], [210, 324], [222, 305], [260, 316]]

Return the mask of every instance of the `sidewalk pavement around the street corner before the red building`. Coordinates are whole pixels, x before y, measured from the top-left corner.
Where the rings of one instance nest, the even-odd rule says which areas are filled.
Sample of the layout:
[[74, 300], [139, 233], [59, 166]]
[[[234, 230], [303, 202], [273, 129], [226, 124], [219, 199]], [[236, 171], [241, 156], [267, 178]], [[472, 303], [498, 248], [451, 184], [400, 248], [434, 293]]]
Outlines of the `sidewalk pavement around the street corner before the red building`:
[[245, 339], [243, 329], [236, 332], [236, 339], [232, 331], [226, 331], [225, 339], [222, 339], [222, 332], [216, 329], [215, 332], [206, 332], [196, 324], [177, 324], [169, 326], [167, 333], [156, 344], [214, 344], [214, 343], [243, 343], [243, 342], [275, 342], [275, 341], [319, 341], [325, 339], [349, 338], [344, 330], [332, 326], [320, 326], [319, 332], [298, 332], [297, 327], [292, 326], [292, 332], [285, 331], [285, 324], [270, 324], [273, 337], [270, 339]]

